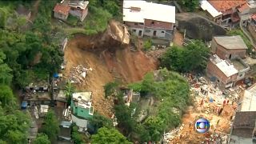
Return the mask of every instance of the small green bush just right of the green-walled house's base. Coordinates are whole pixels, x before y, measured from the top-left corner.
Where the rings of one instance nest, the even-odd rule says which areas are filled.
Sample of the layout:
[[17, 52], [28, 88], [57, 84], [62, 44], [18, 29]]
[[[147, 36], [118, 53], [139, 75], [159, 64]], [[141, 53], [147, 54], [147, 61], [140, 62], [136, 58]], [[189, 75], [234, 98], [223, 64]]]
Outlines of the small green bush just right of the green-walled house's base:
[[95, 131], [97, 132], [99, 128], [104, 127], [113, 127], [112, 121], [110, 118], [106, 118], [101, 114], [94, 114], [93, 118], [90, 120], [90, 124], [94, 126]]

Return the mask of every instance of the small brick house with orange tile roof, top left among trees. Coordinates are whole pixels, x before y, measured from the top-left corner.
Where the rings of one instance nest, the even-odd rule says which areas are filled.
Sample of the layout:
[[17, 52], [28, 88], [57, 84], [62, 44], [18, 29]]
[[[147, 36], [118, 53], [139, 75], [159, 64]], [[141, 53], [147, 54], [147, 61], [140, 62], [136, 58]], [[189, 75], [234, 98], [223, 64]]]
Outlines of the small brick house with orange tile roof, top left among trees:
[[88, 4], [88, 1], [62, 0], [54, 7], [54, 18], [66, 21], [69, 14], [71, 14], [82, 22], [88, 14]]

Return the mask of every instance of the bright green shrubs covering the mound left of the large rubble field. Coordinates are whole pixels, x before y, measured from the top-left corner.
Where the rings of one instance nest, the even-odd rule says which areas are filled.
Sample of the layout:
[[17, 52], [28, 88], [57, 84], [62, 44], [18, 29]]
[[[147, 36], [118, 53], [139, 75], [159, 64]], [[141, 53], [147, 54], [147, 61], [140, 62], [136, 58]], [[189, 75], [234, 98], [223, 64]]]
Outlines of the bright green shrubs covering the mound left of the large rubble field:
[[139, 142], [158, 142], [164, 130], [178, 126], [180, 112], [190, 104], [190, 86], [180, 74], [166, 69], [158, 70], [155, 77], [152, 73], [146, 74], [142, 82], [136, 83], [139, 84], [141, 91], [154, 95], [156, 113], [133, 127], [133, 137]]

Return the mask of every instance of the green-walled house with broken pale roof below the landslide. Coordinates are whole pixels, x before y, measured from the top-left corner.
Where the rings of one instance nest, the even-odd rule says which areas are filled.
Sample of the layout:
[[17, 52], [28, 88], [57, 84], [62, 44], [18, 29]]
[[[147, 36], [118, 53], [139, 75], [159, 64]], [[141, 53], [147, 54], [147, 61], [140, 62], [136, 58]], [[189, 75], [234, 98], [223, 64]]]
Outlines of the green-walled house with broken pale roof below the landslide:
[[88, 120], [94, 115], [91, 102], [92, 92], [74, 93], [71, 99], [71, 118], [78, 126], [79, 131], [86, 131]]

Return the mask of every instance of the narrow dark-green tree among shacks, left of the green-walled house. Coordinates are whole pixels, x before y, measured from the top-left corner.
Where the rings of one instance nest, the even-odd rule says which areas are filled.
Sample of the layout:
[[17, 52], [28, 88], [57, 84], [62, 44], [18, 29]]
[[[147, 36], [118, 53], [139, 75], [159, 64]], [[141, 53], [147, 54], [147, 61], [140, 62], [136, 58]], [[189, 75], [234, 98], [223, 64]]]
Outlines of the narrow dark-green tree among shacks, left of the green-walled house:
[[54, 142], [58, 136], [59, 125], [54, 111], [49, 110], [42, 123], [42, 133], [46, 134], [51, 142]]

